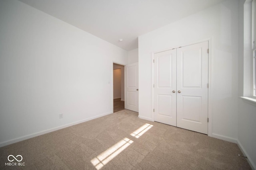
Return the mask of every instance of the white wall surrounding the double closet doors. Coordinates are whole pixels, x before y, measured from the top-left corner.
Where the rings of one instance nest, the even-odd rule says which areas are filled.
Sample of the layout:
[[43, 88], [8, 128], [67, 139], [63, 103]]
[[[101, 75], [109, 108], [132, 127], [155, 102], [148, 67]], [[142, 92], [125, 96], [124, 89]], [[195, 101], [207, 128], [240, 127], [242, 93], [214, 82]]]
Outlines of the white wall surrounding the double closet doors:
[[238, 1], [228, 0], [139, 37], [139, 116], [152, 120], [152, 53], [210, 39], [213, 137], [236, 142]]

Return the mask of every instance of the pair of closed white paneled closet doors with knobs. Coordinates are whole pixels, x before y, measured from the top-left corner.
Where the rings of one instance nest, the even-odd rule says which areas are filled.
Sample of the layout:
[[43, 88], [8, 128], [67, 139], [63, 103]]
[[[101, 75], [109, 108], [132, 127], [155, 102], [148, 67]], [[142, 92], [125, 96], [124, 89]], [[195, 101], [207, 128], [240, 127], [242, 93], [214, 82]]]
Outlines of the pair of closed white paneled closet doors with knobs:
[[154, 121], [208, 133], [208, 41], [154, 54]]

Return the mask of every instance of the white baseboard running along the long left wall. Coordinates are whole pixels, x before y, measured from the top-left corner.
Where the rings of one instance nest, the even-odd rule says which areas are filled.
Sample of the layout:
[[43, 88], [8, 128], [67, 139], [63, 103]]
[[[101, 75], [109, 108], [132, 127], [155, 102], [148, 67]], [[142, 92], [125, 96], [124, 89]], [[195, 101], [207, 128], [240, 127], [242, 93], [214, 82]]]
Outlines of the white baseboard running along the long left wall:
[[20, 142], [20, 141], [24, 141], [26, 139], [30, 139], [32, 137], [37, 137], [37, 136], [40, 136], [40, 135], [44, 135], [46, 133], [50, 133], [50, 132], [53, 132], [53, 131], [57, 131], [57, 130], [60, 130], [60, 129], [63, 129], [63, 128], [66, 128], [66, 127], [70, 127], [72, 125], [76, 125], [76, 124], [79, 124], [79, 123], [84, 123], [86, 121], [89, 121], [89, 120], [92, 120], [92, 119], [96, 119], [98, 117], [102, 117], [102, 116], [105, 116], [105, 115], [109, 115], [113, 113], [112, 111], [111, 112], [108, 112], [108, 113], [104, 113], [104, 114], [101, 114], [101, 115], [97, 115], [97, 116], [94, 116], [94, 117], [90, 117], [90, 118], [87, 118], [87, 119], [83, 119], [83, 120], [80, 120], [80, 121], [76, 121], [76, 122], [73, 122], [73, 123], [68, 123], [66, 125], [62, 125], [62, 126], [58, 126], [58, 127], [54, 127], [54, 128], [51, 128], [51, 129], [47, 129], [47, 130], [44, 130], [44, 131], [40, 131], [40, 132], [36, 132], [36, 133], [32, 133], [30, 135], [26, 135], [26, 136], [22, 136], [22, 137], [18, 137], [18, 138], [15, 138], [15, 139], [11, 139], [9, 141], [4, 141], [2, 143], [0, 143], [0, 147], [4, 147], [6, 145], [10, 145], [12, 143], [16, 143], [16, 142]]

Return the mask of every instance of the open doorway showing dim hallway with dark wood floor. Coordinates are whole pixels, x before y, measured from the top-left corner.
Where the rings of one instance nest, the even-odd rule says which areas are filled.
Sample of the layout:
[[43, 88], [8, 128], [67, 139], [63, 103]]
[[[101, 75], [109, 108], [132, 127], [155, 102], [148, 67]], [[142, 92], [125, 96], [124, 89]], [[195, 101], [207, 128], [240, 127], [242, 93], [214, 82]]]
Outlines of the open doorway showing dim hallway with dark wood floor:
[[124, 66], [113, 63], [113, 112], [124, 109]]

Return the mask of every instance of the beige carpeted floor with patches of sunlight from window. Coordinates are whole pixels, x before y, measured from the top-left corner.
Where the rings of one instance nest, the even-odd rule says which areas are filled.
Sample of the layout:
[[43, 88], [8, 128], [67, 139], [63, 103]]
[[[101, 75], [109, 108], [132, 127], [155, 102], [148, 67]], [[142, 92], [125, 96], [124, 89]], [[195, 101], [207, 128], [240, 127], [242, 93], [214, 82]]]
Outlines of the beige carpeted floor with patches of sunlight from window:
[[[234, 143], [137, 117], [124, 109], [2, 147], [0, 169], [251, 169]], [[10, 154], [25, 166], [5, 165]]]

